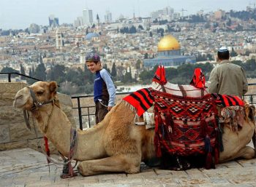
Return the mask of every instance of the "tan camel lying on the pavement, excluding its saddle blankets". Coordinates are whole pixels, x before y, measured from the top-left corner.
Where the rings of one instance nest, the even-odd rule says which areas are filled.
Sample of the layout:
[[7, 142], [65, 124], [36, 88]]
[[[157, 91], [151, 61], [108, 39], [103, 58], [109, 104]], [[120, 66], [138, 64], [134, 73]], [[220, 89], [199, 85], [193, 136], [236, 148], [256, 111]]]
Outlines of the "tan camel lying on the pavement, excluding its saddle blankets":
[[[32, 95], [37, 102], [50, 103], [34, 109]], [[30, 87], [20, 89], [15, 95], [15, 108], [31, 111], [37, 127], [58, 151], [69, 156], [71, 123], [58, 105], [55, 81], [37, 81]], [[79, 162], [78, 171], [83, 176], [105, 172], [140, 172], [140, 163], [156, 157], [154, 130], [135, 125], [135, 111], [124, 103], [118, 103], [105, 119], [89, 130], [78, 130], [78, 147], [74, 159]], [[219, 162], [227, 162], [238, 157], [252, 159], [253, 148], [246, 146], [255, 131], [254, 111], [246, 107], [243, 128], [236, 134], [225, 128], [224, 151]]]

